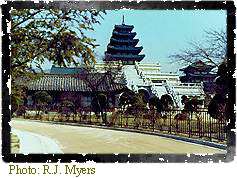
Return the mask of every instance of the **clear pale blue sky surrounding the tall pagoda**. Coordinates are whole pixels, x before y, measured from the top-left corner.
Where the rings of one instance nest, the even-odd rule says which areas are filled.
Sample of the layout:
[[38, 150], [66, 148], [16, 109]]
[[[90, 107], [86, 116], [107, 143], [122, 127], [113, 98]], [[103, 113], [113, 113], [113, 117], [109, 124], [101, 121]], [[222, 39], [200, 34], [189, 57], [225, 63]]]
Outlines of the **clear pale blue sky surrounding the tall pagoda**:
[[[143, 62], [159, 63], [163, 72], [178, 72], [180, 63], [172, 63], [170, 55], [189, 47], [189, 42], [205, 40], [205, 31], [226, 30], [224, 10], [108, 10], [101, 24], [88, 32], [100, 46], [95, 52], [102, 57], [112, 35], [114, 25], [134, 25], [135, 38], [143, 46]], [[97, 60], [98, 61], [98, 60]]]

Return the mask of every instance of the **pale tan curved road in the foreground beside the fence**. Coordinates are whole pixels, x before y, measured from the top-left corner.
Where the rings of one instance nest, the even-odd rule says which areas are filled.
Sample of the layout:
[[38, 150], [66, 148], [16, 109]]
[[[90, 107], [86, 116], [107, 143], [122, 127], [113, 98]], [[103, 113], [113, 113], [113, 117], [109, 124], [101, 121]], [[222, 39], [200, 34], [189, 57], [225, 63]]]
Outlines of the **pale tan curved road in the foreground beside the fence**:
[[55, 140], [63, 153], [225, 153], [212, 147], [133, 132], [16, 119], [11, 126]]

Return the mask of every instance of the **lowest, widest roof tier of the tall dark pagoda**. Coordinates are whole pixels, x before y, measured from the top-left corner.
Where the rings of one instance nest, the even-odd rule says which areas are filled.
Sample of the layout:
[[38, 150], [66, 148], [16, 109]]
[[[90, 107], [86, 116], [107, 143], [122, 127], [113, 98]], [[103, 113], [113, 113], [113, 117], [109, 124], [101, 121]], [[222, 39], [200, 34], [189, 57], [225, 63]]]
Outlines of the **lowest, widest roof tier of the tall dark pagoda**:
[[140, 62], [145, 57], [142, 55], [133, 55], [133, 54], [109, 54], [105, 53], [106, 61], [138, 61]]

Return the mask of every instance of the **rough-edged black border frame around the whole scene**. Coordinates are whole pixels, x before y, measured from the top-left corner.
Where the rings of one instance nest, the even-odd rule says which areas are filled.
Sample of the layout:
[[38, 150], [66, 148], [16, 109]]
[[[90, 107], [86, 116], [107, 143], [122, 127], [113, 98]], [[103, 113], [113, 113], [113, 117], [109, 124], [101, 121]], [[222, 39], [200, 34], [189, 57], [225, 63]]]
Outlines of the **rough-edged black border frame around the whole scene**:
[[[11, 7], [15, 9], [21, 8], [77, 8], [77, 9], [120, 9], [120, 8], [131, 8], [131, 9], [144, 9], [144, 10], [165, 10], [165, 9], [177, 9], [177, 10], [193, 10], [193, 9], [205, 9], [205, 10], [226, 10], [227, 11], [227, 57], [228, 57], [228, 69], [230, 81], [228, 87], [230, 88], [230, 93], [228, 94], [228, 105], [230, 108], [229, 118], [230, 123], [227, 126], [227, 154], [214, 154], [214, 155], [194, 155], [191, 154], [187, 156], [185, 154], [87, 154], [83, 156], [82, 154], [11, 154], [10, 153], [10, 95], [9, 89], [7, 87], [7, 81], [10, 78], [10, 34], [7, 33], [7, 22], [10, 21], [10, 9]], [[234, 105], [236, 98], [235, 91], [235, 79], [233, 74], [235, 72], [236, 66], [236, 56], [234, 54], [234, 29], [236, 26], [235, 19], [236, 8], [233, 1], [178, 1], [178, 2], [162, 2], [162, 1], [141, 1], [141, 2], [128, 2], [128, 1], [83, 1], [83, 2], [73, 2], [73, 1], [55, 1], [48, 4], [44, 2], [34, 3], [32, 1], [17, 1], [17, 2], [7, 2], [7, 4], [2, 5], [2, 159], [5, 162], [23, 163], [45, 163], [45, 162], [62, 162], [69, 163], [71, 160], [76, 162], [106, 162], [106, 163], [145, 163], [145, 162], [230, 162], [234, 160], [236, 155], [236, 136], [235, 132], [231, 129], [235, 129], [235, 113]], [[163, 158], [163, 159], [160, 159]], [[162, 161], [161, 161], [162, 160]]]

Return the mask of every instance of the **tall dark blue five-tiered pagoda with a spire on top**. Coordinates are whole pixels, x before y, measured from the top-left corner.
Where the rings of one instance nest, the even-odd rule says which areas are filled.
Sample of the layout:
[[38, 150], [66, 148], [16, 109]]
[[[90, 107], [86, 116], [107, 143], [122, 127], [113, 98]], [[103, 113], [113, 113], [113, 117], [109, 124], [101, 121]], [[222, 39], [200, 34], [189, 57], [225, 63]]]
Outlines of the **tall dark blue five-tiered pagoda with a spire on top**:
[[115, 25], [110, 43], [105, 52], [105, 61], [121, 61], [123, 64], [140, 62], [145, 55], [139, 55], [143, 47], [136, 47], [139, 39], [134, 39], [136, 32], [132, 32], [133, 25]]

